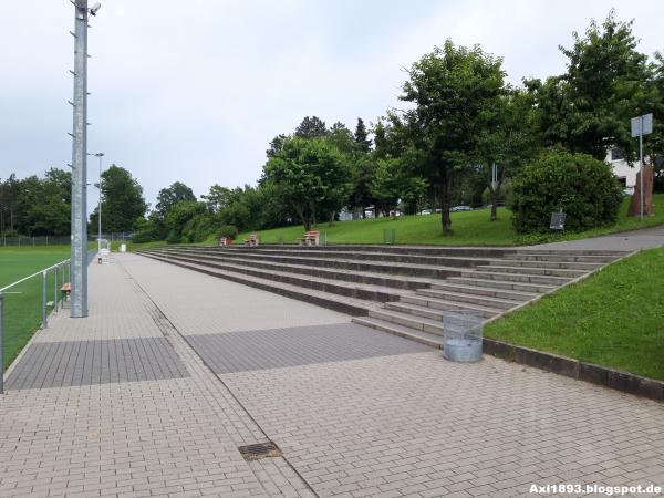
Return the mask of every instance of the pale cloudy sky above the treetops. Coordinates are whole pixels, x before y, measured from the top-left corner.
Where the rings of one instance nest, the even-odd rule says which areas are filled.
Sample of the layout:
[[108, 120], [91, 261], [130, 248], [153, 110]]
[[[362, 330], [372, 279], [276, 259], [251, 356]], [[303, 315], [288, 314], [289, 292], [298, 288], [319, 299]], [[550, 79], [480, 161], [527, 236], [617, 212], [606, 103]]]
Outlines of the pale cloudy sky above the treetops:
[[[513, 83], [561, 73], [558, 45], [612, 7], [635, 19], [643, 52], [664, 50], [658, 0], [102, 3], [89, 34], [89, 151], [129, 169], [153, 205], [176, 180], [196, 195], [253, 184], [270, 139], [305, 115], [375, 121], [398, 106], [403, 68], [446, 38], [502, 56]], [[0, 178], [71, 162], [73, 17], [69, 0], [0, 1]]]

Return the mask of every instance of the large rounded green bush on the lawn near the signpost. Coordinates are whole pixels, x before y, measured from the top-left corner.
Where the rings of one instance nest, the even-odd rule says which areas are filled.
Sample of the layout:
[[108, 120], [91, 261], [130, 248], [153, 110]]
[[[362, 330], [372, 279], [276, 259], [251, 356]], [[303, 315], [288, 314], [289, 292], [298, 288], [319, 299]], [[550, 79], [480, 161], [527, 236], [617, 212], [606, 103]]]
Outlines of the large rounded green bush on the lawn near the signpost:
[[610, 226], [618, 219], [622, 187], [611, 167], [585, 154], [544, 153], [513, 180], [510, 201], [519, 234], [549, 231], [551, 212], [567, 212], [566, 230]]

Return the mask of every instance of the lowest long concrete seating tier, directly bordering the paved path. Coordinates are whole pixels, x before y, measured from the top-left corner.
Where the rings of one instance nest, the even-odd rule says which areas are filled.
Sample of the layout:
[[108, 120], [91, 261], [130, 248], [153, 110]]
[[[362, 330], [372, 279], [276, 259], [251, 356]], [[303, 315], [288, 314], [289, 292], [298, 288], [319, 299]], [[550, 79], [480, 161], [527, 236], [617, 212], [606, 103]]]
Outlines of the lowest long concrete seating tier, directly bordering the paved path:
[[138, 253], [146, 258], [155, 259], [157, 261], [163, 261], [166, 263], [178, 266], [180, 268], [186, 268], [188, 270], [198, 271], [200, 273], [205, 273], [211, 277], [217, 277], [236, 283], [241, 283], [243, 286], [249, 286], [256, 289], [273, 292], [276, 294], [284, 295], [287, 298], [295, 299], [298, 301], [309, 302], [311, 304], [317, 304], [319, 307], [328, 308], [334, 311], [339, 311], [341, 313], [351, 314], [353, 317], [366, 315], [371, 309], [376, 307], [375, 303], [360, 299], [353, 299], [334, 293], [305, 289], [300, 286], [276, 282], [269, 279], [255, 278], [245, 273], [218, 270], [208, 266], [188, 263], [176, 259], [168, 259], [146, 251], [141, 251]]

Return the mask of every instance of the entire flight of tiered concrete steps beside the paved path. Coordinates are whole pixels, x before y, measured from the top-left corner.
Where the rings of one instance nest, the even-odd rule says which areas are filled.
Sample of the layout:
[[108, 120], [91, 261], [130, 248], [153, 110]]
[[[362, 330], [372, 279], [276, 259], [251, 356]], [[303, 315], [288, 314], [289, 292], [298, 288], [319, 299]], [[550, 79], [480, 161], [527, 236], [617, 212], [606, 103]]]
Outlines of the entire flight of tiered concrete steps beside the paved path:
[[443, 315], [489, 320], [624, 255], [406, 246], [168, 246], [144, 256], [354, 315], [353, 321], [433, 346]]

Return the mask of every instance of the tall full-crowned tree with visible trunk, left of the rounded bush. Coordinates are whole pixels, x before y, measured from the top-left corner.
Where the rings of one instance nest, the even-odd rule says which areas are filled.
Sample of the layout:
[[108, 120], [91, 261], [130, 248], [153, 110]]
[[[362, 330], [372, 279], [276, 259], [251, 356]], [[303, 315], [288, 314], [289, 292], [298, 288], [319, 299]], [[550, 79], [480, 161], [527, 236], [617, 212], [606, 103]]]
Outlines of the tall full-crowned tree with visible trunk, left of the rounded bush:
[[415, 104], [415, 108], [402, 116], [388, 115], [395, 131], [407, 133], [419, 152], [418, 164], [414, 165], [417, 176], [438, 187], [443, 234], [452, 230], [455, 174], [470, 167], [483, 114], [505, 94], [501, 63], [479, 46], [457, 48], [447, 40], [408, 71], [409, 80], [400, 98]]

